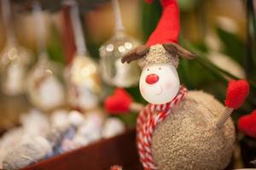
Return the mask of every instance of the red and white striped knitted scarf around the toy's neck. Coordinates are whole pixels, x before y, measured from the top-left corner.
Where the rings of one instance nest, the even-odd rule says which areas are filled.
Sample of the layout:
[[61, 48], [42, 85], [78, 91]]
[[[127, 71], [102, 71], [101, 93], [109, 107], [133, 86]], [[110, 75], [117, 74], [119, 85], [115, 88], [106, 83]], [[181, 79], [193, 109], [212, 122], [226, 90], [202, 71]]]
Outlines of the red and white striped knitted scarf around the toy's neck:
[[181, 86], [177, 96], [171, 102], [163, 105], [148, 104], [137, 117], [137, 148], [145, 170], [157, 169], [151, 154], [154, 128], [171, 114], [172, 107], [177, 105], [187, 93], [187, 88]]

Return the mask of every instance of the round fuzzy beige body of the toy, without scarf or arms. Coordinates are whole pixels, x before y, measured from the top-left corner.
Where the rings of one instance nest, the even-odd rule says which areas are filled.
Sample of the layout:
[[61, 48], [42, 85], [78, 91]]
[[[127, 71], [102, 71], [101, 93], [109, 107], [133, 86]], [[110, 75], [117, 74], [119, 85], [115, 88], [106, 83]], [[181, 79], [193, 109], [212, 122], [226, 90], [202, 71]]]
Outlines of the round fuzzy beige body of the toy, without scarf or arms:
[[189, 91], [172, 114], [154, 130], [152, 154], [160, 170], [224, 169], [235, 143], [231, 119], [222, 129], [214, 123], [224, 105], [212, 95]]

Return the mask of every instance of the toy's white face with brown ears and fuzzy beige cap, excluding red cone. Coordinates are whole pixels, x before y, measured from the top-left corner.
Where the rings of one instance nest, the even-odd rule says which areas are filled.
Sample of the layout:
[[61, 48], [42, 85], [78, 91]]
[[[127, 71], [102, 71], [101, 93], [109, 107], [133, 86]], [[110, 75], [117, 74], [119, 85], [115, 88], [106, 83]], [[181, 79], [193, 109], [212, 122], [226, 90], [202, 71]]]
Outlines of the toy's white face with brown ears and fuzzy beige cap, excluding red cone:
[[149, 103], [160, 105], [171, 101], [179, 90], [178, 55], [184, 59], [195, 58], [194, 54], [171, 42], [135, 48], [123, 56], [122, 62], [143, 59], [140, 92]]

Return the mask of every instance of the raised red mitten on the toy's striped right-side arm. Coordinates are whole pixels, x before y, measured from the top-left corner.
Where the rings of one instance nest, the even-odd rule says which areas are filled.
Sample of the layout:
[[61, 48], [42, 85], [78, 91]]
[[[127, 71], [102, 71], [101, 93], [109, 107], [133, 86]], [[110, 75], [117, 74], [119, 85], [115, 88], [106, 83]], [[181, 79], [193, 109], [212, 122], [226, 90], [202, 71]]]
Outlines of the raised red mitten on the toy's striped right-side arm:
[[229, 82], [225, 105], [232, 108], [239, 108], [249, 94], [249, 84], [245, 80], [232, 80]]

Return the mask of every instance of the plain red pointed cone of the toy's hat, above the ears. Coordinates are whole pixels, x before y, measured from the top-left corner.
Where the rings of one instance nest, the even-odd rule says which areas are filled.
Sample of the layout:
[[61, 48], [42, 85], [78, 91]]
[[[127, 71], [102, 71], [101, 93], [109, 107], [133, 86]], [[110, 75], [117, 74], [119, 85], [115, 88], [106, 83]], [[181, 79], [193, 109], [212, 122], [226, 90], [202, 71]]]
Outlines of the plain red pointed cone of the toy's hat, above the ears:
[[160, 21], [148, 39], [147, 45], [177, 42], [180, 31], [179, 9], [177, 0], [161, 0], [163, 12]]

